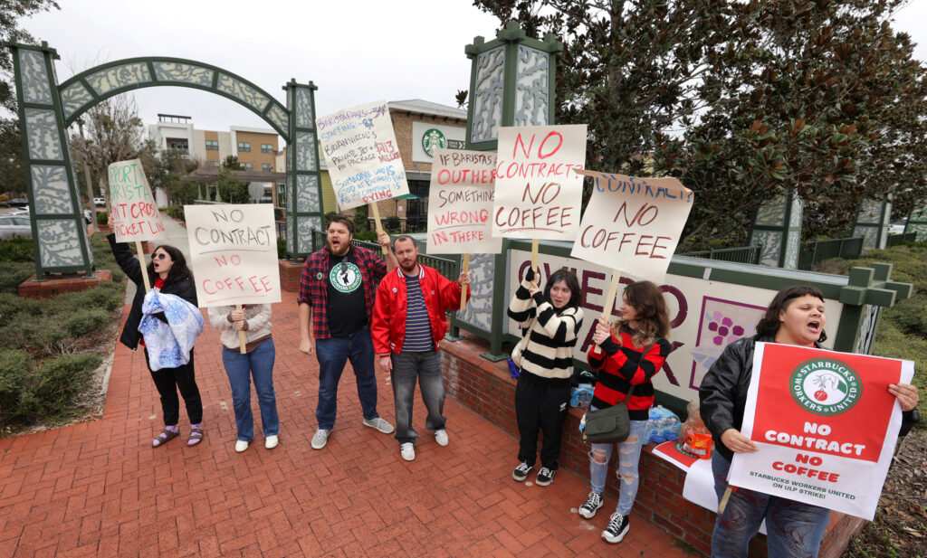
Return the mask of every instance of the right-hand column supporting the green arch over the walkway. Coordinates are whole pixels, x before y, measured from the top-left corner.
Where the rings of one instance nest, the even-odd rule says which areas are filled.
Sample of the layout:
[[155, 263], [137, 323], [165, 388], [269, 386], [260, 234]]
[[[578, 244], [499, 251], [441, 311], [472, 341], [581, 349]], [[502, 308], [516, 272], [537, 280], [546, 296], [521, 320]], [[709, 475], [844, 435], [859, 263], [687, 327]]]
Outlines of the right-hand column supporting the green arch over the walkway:
[[286, 90], [289, 144], [286, 146], [286, 254], [312, 251], [312, 231], [322, 230], [322, 179], [315, 131], [315, 90], [290, 80]]

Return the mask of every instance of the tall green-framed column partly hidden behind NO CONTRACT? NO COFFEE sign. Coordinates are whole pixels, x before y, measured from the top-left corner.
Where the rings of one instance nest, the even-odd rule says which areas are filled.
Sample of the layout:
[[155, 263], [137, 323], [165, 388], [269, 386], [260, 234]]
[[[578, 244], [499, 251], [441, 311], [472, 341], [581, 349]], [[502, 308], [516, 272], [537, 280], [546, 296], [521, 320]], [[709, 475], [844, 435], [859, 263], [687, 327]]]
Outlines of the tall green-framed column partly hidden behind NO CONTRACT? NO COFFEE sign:
[[[553, 123], [554, 77], [563, 44], [548, 35], [543, 41], [527, 36], [510, 21], [487, 43], [476, 37], [464, 49], [470, 58], [470, 103], [467, 108], [466, 148], [496, 149], [501, 126], [544, 126]], [[507, 270], [511, 242], [502, 241], [502, 254], [474, 254], [470, 260], [473, 290], [470, 304], [454, 323], [489, 336], [489, 360], [502, 360], [505, 333]]]

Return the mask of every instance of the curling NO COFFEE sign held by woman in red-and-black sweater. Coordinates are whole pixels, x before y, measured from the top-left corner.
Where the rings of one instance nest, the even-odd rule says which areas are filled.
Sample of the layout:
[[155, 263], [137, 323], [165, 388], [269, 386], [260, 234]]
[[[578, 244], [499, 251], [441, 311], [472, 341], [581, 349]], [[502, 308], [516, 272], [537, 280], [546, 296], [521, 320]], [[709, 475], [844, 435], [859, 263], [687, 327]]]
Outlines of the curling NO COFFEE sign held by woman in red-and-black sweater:
[[692, 191], [673, 178], [583, 174], [595, 185], [570, 255], [637, 279], [662, 281], [692, 211]]

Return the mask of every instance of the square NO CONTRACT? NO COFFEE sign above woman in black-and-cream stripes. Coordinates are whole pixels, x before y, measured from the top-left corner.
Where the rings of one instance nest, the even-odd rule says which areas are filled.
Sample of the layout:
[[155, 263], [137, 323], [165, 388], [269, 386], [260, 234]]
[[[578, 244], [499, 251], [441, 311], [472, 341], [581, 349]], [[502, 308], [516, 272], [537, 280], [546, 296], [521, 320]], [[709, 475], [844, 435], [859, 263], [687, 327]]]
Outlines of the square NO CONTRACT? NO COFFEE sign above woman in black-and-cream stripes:
[[492, 236], [575, 239], [586, 125], [502, 127], [497, 156]]

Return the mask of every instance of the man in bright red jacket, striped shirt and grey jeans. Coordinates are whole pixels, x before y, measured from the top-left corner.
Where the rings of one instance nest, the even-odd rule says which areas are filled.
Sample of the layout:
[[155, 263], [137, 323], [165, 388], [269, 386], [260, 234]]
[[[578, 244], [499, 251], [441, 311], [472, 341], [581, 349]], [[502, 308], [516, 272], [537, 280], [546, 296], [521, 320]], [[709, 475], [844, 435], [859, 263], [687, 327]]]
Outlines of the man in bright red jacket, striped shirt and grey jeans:
[[[470, 280], [445, 279], [434, 267], [418, 263], [418, 249], [409, 236], [393, 242], [399, 267], [387, 273], [376, 291], [371, 337], [380, 367], [392, 375], [396, 404], [396, 440], [406, 461], [415, 459], [412, 406], [415, 380], [428, 409], [425, 426], [438, 445], [448, 445], [444, 418], [444, 382], [438, 342], [448, 331], [446, 313], [460, 309]], [[464, 295], [465, 296], [465, 295]]]

